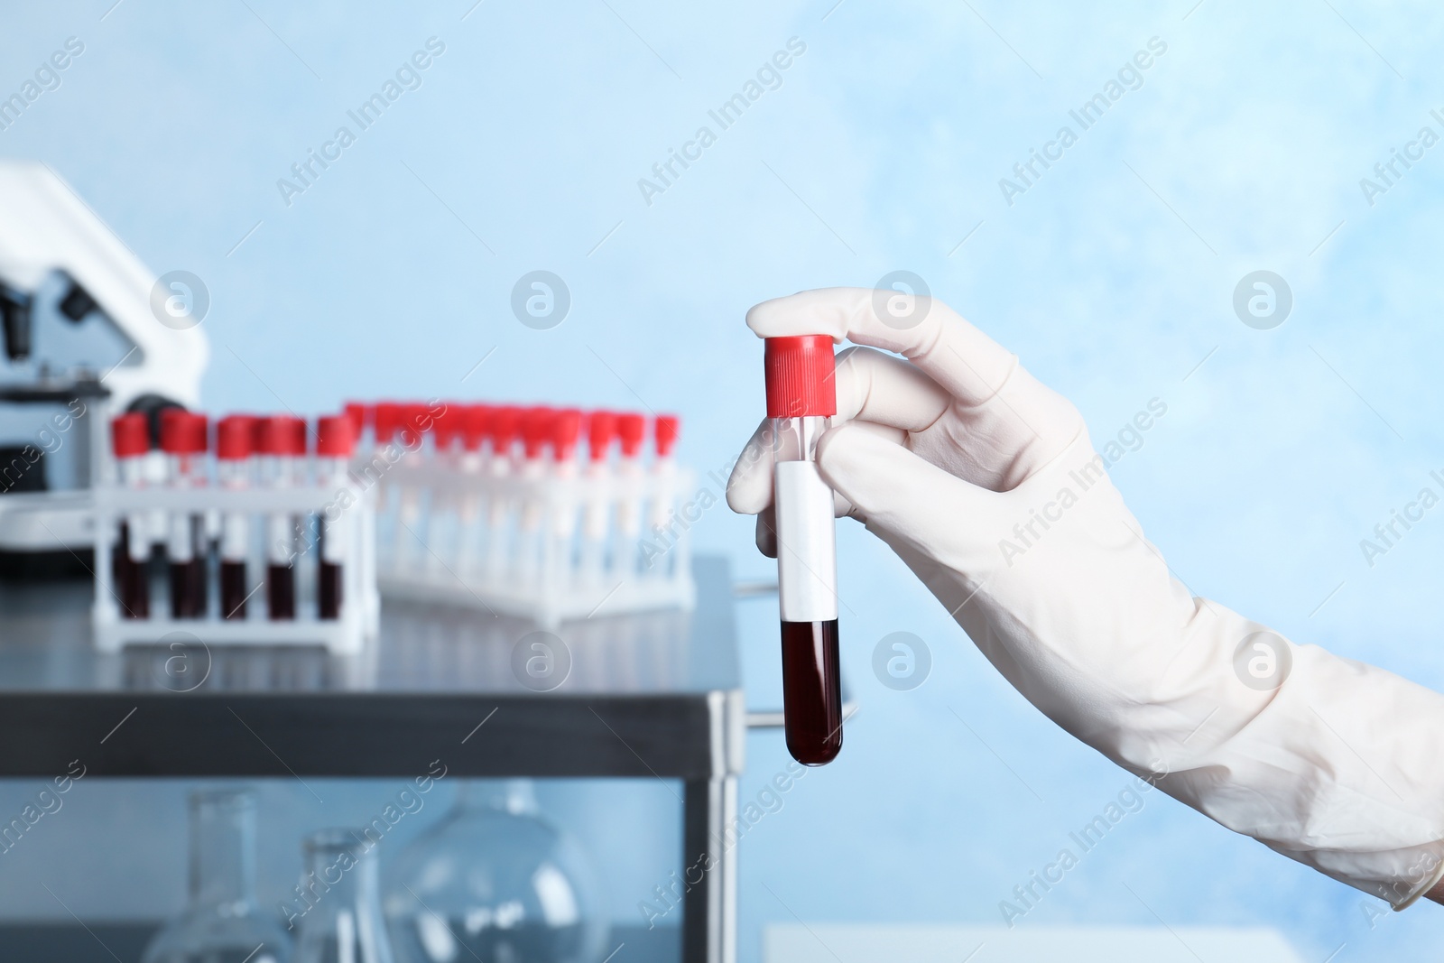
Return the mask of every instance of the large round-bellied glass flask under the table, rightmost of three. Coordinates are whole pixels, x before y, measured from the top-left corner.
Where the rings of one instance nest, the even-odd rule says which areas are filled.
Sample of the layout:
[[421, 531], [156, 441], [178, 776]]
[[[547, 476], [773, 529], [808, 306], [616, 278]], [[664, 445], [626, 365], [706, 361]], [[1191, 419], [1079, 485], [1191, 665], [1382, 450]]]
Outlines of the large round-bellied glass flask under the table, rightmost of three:
[[530, 780], [464, 783], [390, 865], [386, 918], [397, 963], [596, 963], [608, 934], [591, 862]]

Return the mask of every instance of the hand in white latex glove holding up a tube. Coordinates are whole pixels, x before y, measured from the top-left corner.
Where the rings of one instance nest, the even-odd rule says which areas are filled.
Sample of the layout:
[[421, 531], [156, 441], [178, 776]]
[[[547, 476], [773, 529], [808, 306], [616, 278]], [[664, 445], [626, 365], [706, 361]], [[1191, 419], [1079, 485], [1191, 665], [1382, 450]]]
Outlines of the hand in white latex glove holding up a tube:
[[[878, 312], [882, 297], [904, 318]], [[879, 300], [875, 300], [879, 299]], [[947, 306], [826, 289], [752, 308], [838, 358], [819, 468], [1050, 719], [1229, 829], [1404, 908], [1444, 875], [1444, 696], [1194, 598], [1077, 410]], [[767, 520], [767, 422], [728, 485]]]

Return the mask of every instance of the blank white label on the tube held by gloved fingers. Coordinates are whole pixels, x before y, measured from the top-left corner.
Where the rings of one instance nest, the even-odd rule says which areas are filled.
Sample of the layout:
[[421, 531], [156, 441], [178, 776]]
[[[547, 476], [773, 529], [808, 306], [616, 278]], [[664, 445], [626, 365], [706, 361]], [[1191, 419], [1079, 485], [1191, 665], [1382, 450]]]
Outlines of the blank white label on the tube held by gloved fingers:
[[784, 622], [838, 618], [832, 489], [816, 462], [777, 463], [777, 583]]

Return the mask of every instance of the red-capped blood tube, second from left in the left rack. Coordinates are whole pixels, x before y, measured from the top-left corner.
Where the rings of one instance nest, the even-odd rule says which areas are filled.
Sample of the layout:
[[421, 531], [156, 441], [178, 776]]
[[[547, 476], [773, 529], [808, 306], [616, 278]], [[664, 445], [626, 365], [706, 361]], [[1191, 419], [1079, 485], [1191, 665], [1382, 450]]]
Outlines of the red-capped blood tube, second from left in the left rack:
[[[166, 453], [172, 488], [205, 487], [208, 427], [204, 414], [183, 409], [166, 409], [160, 413], [160, 449]], [[202, 517], [192, 511], [173, 511], [168, 528], [170, 616], [201, 618], [205, 615], [206, 598]]]

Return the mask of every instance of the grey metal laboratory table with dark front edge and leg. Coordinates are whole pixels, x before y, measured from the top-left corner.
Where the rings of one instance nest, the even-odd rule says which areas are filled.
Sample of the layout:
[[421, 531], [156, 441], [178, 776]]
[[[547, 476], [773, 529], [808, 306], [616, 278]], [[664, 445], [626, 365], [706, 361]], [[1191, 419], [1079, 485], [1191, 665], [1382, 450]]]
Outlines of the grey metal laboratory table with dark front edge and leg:
[[[683, 787], [683, 960], [735, 959], [736, 814], [747, 713], [726, 562], [693, 562], [692, 612], [565, 624], [537, 683], [537, 627], [387, 599], [357, 655], [159, 638], [90, 644], [90, 582], [0, 583], [0, 777], [634, 777]], [[204, 637], [204, 629], [198, 629]], [[530, 681], [533, 687], [524, 684]], [[679, 872], [679, 876], [682, 873]]]

